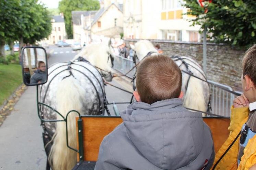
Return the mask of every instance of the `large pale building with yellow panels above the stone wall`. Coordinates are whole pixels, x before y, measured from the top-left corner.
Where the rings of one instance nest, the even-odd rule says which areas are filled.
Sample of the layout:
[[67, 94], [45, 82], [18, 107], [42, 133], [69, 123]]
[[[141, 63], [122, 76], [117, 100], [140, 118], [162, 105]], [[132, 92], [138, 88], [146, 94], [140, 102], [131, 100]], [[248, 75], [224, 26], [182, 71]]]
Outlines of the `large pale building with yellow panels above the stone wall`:
[[200, 41], [182, 0], [124, 0], [124, 38]]

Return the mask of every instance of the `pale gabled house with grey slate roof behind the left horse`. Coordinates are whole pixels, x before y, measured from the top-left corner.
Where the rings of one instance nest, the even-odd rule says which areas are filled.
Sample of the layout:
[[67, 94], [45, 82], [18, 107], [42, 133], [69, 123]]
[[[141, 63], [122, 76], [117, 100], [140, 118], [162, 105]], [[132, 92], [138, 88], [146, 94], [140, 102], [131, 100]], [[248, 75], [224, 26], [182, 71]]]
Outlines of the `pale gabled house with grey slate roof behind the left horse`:
[[73, 38], [81, 44], [103, 37], [120, 37], [123, 32], [122, 5], [117, 0], [100, 1], [98, 11], [72, 11]]

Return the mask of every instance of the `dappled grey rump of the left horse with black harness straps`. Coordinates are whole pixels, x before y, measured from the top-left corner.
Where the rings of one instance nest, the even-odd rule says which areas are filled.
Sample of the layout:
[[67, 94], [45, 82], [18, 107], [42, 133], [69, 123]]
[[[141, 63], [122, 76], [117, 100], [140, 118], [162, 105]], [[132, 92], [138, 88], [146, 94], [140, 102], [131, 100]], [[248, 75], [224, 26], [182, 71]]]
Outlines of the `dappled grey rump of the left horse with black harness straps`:
[[[86, 94], [88, 94], [88, 96], [84, 96], [84, 109], [81, 114], [103, 115], [105, 97], [104, 83], [98, 70], [88, 62], [62, 62], [49, 67], [48, 81], [46, 84], [40, 86], [39, 102], [56, 108], [57, 88], [66, 77], [73, 77], [74, 80], [77, 80], [86, 90]], [[65, 93], [65, 91], [63, 91], [63, 93]], [[56, 112], [48, 107], [40, 105], [39, 111], [45, 120], [56, 119]], [[53, 132], [55, 131], [55, 124], [54, 122], [45, 122], [45, 126]]]

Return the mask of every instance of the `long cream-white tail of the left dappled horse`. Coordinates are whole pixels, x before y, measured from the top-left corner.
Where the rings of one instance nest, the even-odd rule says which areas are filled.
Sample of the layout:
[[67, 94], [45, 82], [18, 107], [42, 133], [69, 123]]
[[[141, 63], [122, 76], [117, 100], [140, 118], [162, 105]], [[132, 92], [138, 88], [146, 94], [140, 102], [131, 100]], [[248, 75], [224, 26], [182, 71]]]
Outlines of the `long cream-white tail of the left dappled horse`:
[[[58, 85], [56, 94], [57, 111], [64, 117], [70, 110], [82, 112], [83, 98], [86, 91], [72, 76], [65, 78]], [[76, 121], [78, 116], [75, 112], [68, 115], [68, 142], [69, 146], [76, 148]], [[57, 114], [57, 119], [63, 119]], [[76, 152], [66, 145], [66, 124], [65, 122], [56, 123], [53, 145], [49, 154], [49, 162], [53, 170], [70, 170], [76, 164]]]

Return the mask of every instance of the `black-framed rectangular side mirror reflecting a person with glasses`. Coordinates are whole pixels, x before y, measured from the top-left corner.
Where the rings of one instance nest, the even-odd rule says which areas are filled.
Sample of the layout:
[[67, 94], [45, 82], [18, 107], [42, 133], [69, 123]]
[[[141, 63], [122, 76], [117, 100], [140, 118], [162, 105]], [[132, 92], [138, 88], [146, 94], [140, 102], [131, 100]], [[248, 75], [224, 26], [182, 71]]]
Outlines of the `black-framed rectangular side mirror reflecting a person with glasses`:
[[47, 82], [47, 55], [43, 47], [22, 48], [22, 76], [27, 86], [45, 84]]

